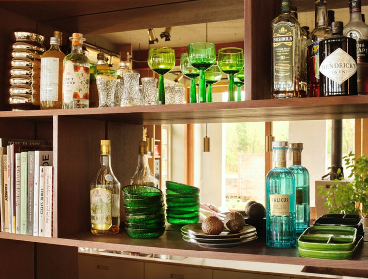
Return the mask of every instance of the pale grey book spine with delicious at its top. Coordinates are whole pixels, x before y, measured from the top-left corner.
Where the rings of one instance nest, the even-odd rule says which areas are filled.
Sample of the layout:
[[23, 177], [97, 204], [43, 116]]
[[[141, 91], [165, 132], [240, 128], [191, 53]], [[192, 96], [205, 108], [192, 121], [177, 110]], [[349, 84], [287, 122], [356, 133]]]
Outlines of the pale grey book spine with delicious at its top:
[[28, 151], [28, 203], [27, 203], [27, 234], [33, 235], [34, 212], [34, 151]]

